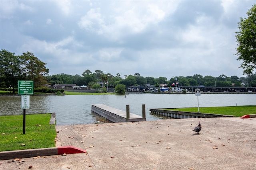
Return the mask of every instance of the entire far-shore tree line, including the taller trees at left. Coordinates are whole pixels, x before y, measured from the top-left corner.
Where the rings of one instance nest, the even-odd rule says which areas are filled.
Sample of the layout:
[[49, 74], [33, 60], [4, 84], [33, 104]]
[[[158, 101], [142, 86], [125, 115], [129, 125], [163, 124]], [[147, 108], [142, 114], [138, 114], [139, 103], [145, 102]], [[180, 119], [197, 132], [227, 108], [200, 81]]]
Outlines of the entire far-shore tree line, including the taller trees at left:
[[18, 88], [18, 80], [33, 80], [34, 88], [42, 88], [44, 84], [77, 84], [78, 86], [86, 85], [89, 88], [96, 87], [96, 82], [108, 82], [108, 86], [116, 87], [118, 84], [124, 86], [146, 86], [147, 84], [159, 87], [160, 84], [172, 87], [178, 78], [179, 86], [256, 86], [256, 73], [248, 74], [246, 77], [231, 76], [224, 74], [213, 76], [202, 76], [194, 74], [193, 76], [178, 76], [168, 80], [166, 77], [143, 77], [139, 73], [134, 75], [124, 75], [116, 73], [104, 73], [101, 70], [85, 70], [81, 75], [69, 74], [54, 74], [49, 75], [49, 69], [46, 68], [46, 63], [40, 61], [33, 53], [26, 52], [23, 55], [15, 55], [6, 50], [0, 51], [0, 88], [12, 88], [14, 92]]

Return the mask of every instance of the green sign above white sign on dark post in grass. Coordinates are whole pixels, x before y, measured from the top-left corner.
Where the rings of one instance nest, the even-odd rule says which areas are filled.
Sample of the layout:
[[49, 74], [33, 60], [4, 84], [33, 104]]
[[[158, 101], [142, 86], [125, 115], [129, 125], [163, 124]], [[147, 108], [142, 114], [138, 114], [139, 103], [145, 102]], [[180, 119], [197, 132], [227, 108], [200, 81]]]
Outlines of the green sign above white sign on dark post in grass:
[[26, 109], [29, 109], [29, 94], [34, 94], [34, 81], [18, 80], [18, 94], [22, 95], [20, 96], [20, 108], [23, 109], [23, 134], [25, 134]]

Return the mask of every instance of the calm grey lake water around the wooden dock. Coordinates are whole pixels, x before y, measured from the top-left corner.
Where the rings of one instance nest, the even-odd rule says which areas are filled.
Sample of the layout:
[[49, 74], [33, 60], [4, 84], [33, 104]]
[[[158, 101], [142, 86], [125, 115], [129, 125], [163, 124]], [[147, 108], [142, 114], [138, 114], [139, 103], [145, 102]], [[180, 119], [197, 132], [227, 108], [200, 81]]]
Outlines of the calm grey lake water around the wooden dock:
[[[200, 107], [256, 105], [256, 94], [201, 94]], [[0, 96], [0, 115], [23, 114], [20, 96]], [[56, 113], [57, 125], [91, 124], [92, 104], [105, 104], [142, 116], [142, 104], [146, 105], [146, 120], [162, 119], [151, 115], [150, 108], [197, 107], [195, 94], [128, 94], [124, 95], [67, 95], [30, 96], [30, 108], [26, 113]]]

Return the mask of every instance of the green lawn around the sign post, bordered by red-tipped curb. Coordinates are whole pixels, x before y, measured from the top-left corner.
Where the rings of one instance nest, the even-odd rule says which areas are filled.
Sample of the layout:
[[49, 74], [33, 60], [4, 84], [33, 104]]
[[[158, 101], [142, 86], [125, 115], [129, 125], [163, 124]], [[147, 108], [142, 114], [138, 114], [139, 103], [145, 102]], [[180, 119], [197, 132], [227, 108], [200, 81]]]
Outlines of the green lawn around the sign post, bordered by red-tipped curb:
[[26, 115], [23, 134], [23, 115], [0, 116], [0, 151], [55, 147], [55, 125], [51, 114]]

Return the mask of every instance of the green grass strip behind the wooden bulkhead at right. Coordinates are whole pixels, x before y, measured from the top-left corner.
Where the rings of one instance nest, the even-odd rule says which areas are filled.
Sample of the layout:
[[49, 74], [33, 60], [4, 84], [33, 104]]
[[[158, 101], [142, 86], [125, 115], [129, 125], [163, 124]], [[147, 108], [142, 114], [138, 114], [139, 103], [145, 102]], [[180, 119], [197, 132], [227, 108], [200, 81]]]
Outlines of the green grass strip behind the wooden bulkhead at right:
[[[177, 108], [168, 110], [198, 112], [198, 107]], [[200, 113], [234, 115], [236, 117], [241, 117], [243, 115], [256, 114], [256, 106], [199, 107], [199, 111]]]

